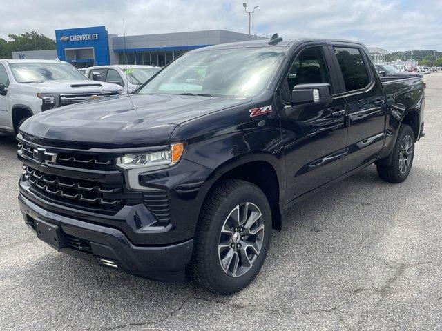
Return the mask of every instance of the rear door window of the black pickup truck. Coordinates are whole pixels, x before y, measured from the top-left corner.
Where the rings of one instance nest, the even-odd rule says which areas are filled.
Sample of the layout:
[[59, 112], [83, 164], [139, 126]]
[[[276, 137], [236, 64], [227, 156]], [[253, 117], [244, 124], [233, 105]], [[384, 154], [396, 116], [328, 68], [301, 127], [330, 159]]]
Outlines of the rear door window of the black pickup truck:
[[357, 48], [334, 47], [334, 52], [343, 73], [345, 90], [349, 92], [365, 88], [370, 79], [361, 51]]

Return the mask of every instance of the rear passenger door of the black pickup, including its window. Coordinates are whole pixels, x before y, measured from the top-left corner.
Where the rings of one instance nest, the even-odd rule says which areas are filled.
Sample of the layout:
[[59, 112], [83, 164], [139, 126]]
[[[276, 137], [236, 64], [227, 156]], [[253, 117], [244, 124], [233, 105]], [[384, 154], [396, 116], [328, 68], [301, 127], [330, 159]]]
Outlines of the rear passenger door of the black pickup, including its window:
[[[345, 171], [372, 163], [385, 139], [386, 103], [381, 78], [362, 46], [334, 44], [330, 51], [336, 61], [341, 86], [338, 98], [347, 103], [347, 148]], [[340, 69], [340, 70], [339, 70]]]

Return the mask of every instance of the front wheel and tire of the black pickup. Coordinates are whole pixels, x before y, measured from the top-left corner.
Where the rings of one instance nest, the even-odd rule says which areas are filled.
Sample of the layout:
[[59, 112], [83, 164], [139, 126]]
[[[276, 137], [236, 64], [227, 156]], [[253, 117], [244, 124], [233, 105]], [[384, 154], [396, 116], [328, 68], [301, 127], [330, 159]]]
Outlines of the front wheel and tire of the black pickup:
[[[254, 215], [262, 215], [253, 225], [254, 230], [252, 230], [252, 227], [249, 227], [250, 231], [247, 232], [251, 233], [256, 231], [257, 228], [262, 229], [262, 234], [258, 232], [258, 235], [261, 236], [260, 239], [258, 237], [254, 238], [253, 234], [244, 237], [240, 236], [240, 239], [238, 239], [238, 236], [236, 237], [236, 229], [234, 230], [233, 226], [230, 228], [227, 222], [235, 221], [234, 217], [232, 218], [231, 216], [237, 214], [236, 212], [233, 213], [237, 208], [238, 219], [247, 219], [247, 215], [244, 218], [240, 216], [241, 208], [242, 210], [251, 209], [250, 212], [242, 212], [242, 214], [250, 215], [249, 219], [252, 219], [251, 215], [253, 212], [256, 212]], [[245, 223], [251, 222], [246, 221], [243, 224]], [[231, 233], [225, 234], [225, 232], [228, 232], [225, 230], [226, 228], [228, 230], [231, 229]], [[224, 229], [223, 233], [222, 229]], [[247, 231], [242, 227], [238, 228], [238, 231], [241, 229]], [[269, 201], [267, 201], [262, 190], [252, 183], [238, 179], [221, 181], [211, 190], [202, 207], [195, 234], [193, 257], [189, 268], [191, 278], [207, 290], [217, 294], [238, 292], [249, 285], [260, 271], [269, 250], [270, 232], [271, 211]], [[227, 239], [222, 238], [223, 236], [227, 236]], [[235, 241], [234, 238], [240, 241]], [[224, 240], [226, 240], [226, 243], [229, 242], [229, 245], [239, 245], [238, 247], [241, 249], [231, 248], [232, 246], [220, 248]], [[249, 250], [251, 247], [248, 243], [253, 240], [255, 240], [255, 244], [260, 243], [258, 254], [255, 254], [257, 250], [253, 248]], [[234, 244], [235, 242], [236, 244]], [[229, 263], [233, 267], [229, 268], [227, 266], [227, 271], [224, 271], [221, 264], [222, 254], [225, 254], [225, 250], [229, 250], [227, 254], [231, 251], [233, 251], [233, 254], [235, 254], [235, 251], [237, 252], [236, 256], [231, 258], [232, 263]], [[254, 259], [253, 263], [249, 263], [251, 259], [248, 256], [247, 260], [242, 260], [244, 252], [246, 252], [245, 254], [250, 253], [251, 259]], [[238, 259], [238, 263], [236, 263], [236, 259]], [[242, 261], [247, 261], [249, 265], [242, 263]], [[227, 263], [224, 264], [227, 265]], [[232, 270], [235, 270], [236, 275], [233, 276]], [[241, 272], [244, 272], [244, 274], [241, 274], [238, 270], [242, 270]]]

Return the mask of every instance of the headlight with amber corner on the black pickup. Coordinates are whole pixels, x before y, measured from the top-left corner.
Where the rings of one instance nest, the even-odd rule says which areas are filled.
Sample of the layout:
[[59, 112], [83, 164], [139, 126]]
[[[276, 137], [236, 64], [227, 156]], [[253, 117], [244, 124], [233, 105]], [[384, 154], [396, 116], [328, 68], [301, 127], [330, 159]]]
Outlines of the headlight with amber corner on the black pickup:
[[167, 168], [180, 161], [183, 152], [183, 143], [173, 143], [169, 150], [123, 155], [122, 157], [117, 157], [115, 163], [119, 168], [123, 169], [156, 168], [161, 165], [164, 165], [165, 168]]

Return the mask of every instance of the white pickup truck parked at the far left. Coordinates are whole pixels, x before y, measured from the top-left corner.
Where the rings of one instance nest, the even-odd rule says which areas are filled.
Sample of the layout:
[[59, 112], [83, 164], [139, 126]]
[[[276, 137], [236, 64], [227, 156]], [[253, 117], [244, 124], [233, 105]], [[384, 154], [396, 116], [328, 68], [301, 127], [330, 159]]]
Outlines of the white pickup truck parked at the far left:
[[122, 90], [116, 84], [91, 81], [63, 61], [0, 59], [0, 132], [17, 133], [21, 123], [41, 111]]

